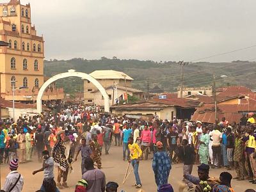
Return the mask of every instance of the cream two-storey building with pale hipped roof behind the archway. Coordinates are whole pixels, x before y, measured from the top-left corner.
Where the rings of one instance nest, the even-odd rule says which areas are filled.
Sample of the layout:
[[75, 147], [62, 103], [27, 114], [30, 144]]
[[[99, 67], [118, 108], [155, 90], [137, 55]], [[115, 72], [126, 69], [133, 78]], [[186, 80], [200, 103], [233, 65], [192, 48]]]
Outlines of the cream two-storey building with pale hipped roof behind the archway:
[[[90, 76], [97, 79], [97, 81], [99, 81], [99, 83], [106, 88], [109, 99], [111, 100], [111, 104], [113, 104], [112, 100], [115, 96], [113, 95], [113, 88], [111, 91], [109, 91], [109, 87], [115, 86], [117, 87], [117, 90], [118, 87], [122, 87], [122, 93], [124, 93], [125, 81], [127, 88], [131, 88], [133, 81], [132, 77], [129, 77], [127, 74], [116, 70], [95, 70], [90, 74]], [[98, 89], [90, 81], [84, 81], [84, 103], [101, 105], [102, 96], [97, 92], [97, 90]], [[136, 91], [140, 92], [139, 90]], [[128, 90], [127, 93], [132, 95], [130, 92], [128, 92]], [[117, 97], [120, 97], [119, 91]]]

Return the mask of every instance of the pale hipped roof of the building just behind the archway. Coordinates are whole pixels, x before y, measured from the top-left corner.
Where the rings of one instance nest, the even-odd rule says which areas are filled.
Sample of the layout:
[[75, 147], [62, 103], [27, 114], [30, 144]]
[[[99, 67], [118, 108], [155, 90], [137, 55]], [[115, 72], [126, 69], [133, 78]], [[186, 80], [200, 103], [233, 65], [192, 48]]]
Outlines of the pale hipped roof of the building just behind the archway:
[[116, 70], [95, 70], [90, 73], [90, 76], [94, 77], [95, 79], [124, 79], [124, 76], [122, 76], [123, 74], [126, 76], [127, 80], [134, 80], [124, 72]]

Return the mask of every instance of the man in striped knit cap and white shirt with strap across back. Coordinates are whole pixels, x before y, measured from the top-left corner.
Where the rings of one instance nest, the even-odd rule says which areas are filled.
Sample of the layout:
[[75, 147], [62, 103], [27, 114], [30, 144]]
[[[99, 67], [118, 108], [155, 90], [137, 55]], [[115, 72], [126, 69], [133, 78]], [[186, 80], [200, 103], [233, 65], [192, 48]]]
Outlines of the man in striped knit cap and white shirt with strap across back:
[[22, 191], [24, 179], [23, 176], [17, 171], [19, 160], [13, 159], [10, 162], [10, 170], [11, 172], [7, 175], [3, 190], [4, 191]]

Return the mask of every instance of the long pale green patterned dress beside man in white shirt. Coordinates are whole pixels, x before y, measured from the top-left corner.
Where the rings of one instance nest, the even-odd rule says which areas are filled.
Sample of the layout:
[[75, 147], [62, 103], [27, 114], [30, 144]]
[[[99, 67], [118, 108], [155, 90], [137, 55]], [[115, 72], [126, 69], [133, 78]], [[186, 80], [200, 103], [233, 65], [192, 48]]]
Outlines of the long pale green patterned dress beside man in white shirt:
[[200, 158], [200, 163], [208, 164], [208, 159], [209, 159], [209, 141], [210, 137], [208, 134], [202, 134], [200, 137], [200, 141], [203, 141], [204, 143], [201, 143], [199, 146], [199, 158]]

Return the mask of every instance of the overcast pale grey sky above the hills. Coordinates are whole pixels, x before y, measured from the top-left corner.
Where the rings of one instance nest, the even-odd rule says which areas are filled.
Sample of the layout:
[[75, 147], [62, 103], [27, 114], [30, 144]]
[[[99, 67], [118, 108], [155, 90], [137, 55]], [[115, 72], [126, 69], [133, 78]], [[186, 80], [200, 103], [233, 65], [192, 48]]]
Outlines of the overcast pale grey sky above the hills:
[[[256, 45], [255, 0], [28, 2], [46, 59], [191, 61]], [[256, 47], [204, 61], [253, 58]]]

